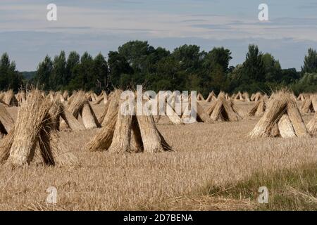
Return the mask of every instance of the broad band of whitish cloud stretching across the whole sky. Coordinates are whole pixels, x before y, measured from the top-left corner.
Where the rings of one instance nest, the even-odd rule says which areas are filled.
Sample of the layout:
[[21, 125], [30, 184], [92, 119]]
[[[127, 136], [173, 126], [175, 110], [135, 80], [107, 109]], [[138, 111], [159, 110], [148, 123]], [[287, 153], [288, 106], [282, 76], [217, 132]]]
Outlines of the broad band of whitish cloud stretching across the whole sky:
[[[200, 37], [210, 39], [268, 38], [317, 41], [317, 19], [280, 18], [259, 23], [254, 17], [184, 15], [157, 11], [58, 6], [58, 21], [46, 20], [46, 4], [1, 7], [2, 31], [48, 31], [66, 33], [139, 32], [146, 37]], [[237, 23], [238, 21], [238, 23]], [[85, 29], [87, 28], [87, 29]], [[313, 29], [312, 29], [313, 28]], [[144, 37], [144, 36], [142, 36]]]

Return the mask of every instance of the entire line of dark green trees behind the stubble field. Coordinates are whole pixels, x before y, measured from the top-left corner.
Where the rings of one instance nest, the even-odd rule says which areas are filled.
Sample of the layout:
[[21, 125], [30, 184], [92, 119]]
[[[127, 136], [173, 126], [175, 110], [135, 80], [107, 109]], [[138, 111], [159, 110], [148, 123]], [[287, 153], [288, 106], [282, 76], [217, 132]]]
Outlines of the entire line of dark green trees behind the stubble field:
[[[28, 83], [55, 91], [111, 91], [135, 88], [137, 84], [154, 91], [197, 90], [204, 95], [212, 90], [270, 93], [285, 86], [295, 94], [317, 91], [317, 53], [313, 49], [305, 56], [300, 72], [295, 68], [282, 69], [277, 59], [270, 53], [262, 53], [254, 44], [249, 45], [241, 65], [229, 66], [231, 59], [231, 51], [223, 47], [206, 52], [199, 46], [185, 44], [170, 52], [154, 48], [147, 41], [129, 41], [118, 51], [110, 51], [108, 60], [101, 53], [92, 57], [87, 52], [80, 56], [75, 51], [67, 57], [64, 51], [53, 59], [46, 56]], [[0, 77], [2, 80], [2, 70]], [[13, 88], [15, 84], [10, 85], [1, 89]]]

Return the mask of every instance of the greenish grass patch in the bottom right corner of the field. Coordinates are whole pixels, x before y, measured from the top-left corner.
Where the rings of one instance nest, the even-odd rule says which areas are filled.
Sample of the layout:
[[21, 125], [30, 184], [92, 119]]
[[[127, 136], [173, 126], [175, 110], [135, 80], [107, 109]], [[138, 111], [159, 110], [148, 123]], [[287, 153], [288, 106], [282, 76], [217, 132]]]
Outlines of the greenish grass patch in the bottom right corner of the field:
[[[268, 204], [258, 202], [259, 187], [268, 188]], [[250, 199], [256, 210], [317, 210], [317, 165], [257, 173], [228, 186], [207, 186], [204, 194]]]

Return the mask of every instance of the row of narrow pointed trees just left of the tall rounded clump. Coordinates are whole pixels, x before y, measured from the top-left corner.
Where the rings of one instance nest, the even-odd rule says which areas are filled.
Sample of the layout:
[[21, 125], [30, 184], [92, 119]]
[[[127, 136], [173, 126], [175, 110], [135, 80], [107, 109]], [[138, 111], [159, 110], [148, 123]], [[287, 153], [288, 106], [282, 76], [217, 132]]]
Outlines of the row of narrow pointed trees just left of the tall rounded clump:
[[65, 51], [61, 51], [54, 60], [46, 56], [39, 63], [32, 82], [44, 90], [100, 91], [108, 87], [108, 64], [101, 53], [92, 58], [87, 52], [80, 57], [72, 51], [66, 58]]

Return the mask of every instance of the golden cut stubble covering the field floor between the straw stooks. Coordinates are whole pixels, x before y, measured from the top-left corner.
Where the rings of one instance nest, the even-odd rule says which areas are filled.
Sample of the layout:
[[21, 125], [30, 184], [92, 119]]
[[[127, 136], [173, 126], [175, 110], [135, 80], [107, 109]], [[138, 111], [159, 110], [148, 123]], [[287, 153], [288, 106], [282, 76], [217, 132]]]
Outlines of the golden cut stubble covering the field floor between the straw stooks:
[[[211, 103], [201, 104], [206, 109]], [[237, 105], [249, 112], [253, 103]], [[103, 106], [92, 105], [97, 117]], [[14, 109], [10, 110], [14, 118]], [[305, 115], [304, 121], [312, 116]], [[82, 166], [45, 167], [32, 162], [12, 170], [1, 165], [0, 210], [252, 210], [252, 201], [206, 196], [201, 190], [317, 161], [316, 135], [249, 139], [256, 122], [184, 126], [163, 117], [158, 129], [174, 151], [155, 154], [89, 152], [83, 147], [100, 129], [62, 131], [60, 141]], [[49, 186], [58, 191], [55, 206], [45, 203]]]

